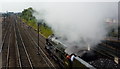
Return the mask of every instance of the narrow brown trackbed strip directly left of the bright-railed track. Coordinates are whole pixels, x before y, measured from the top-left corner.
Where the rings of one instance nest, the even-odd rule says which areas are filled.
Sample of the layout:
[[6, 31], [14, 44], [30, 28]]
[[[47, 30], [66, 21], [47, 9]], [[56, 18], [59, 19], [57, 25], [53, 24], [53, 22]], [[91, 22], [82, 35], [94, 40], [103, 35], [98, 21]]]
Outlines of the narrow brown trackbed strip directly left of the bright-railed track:
[[[11, 20], [13, 22], [13, 20]], [[16, 45], [15, 45], [15, 31], [14, 31], [14, 24], [11, 23], [11, 32], [10, 32], [8, 44], [8, 54], [7, 54], [7, 66], [6, 68], [13, 68], [18, 67], [18, 61], [16, 60]]]

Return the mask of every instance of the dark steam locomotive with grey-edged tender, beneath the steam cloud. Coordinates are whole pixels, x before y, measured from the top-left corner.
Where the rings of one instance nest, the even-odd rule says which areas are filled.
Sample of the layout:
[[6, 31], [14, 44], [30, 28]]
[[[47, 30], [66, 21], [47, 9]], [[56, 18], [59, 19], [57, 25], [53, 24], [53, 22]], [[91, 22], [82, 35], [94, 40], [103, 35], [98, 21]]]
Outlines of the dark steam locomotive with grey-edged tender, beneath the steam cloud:
[[[56, 63], [59, 63], [59, 66], [64, 69], [71, 69], [71, 68], [85, 68], [85, 69], [95, 69], [92, 65], [88, 64], [86, 61], [81, 59], [78, 56], [74, 57], [73, 61], [70, 61], [66, 58], [67, 55], [70, 54], [65, 52], [67, 47], [58, 41], [56, 37], [49, 36], [46, 39], [45, 49], [49, 53], [50, 57], [55, 60]], [[72, 63], [72, 64], [71, 64]]]

